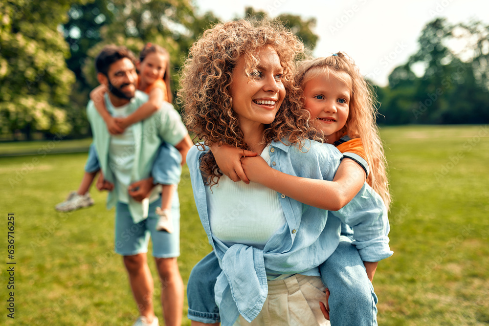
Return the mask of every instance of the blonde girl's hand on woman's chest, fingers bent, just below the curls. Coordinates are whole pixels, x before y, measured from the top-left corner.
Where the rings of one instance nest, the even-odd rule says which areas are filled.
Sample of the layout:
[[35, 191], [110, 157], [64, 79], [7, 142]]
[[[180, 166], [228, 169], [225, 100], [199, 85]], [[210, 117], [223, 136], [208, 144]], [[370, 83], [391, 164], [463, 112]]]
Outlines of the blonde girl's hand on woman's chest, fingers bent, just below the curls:
[[249, 179], [241, 167], [241, 160], [244, 157], [256, 156], [258, 153], [240, 150], [228, 145], [220, 146], [218, 144], [213, 144], [210, 148], [219, 169], [224, 175], [234, 182], [242, 180], [246, 184], [249, 183]]

